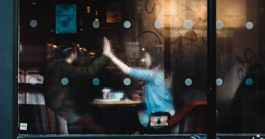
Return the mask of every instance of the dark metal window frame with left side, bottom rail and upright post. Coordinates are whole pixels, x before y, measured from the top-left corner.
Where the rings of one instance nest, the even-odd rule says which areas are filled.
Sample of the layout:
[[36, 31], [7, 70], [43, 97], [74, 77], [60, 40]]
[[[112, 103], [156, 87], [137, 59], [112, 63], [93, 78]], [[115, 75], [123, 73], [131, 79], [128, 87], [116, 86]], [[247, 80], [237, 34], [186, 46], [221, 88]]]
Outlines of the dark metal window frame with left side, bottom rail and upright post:
[[[2, 59], [2, 75], [9, 78], [0, 79], [0, 107], [2, 115], [0, 138], [189, 138], [191, 135], [39, 135], [19, 136], [18, 135], [18, 0], [1, 0], [0, 14], [2, 19], [0, 52]], [[207, 50], [208, 50], [208, 138], [216, 136], [216, 0], [207, 0], [208, 21], [207, 21]], [[5, 15], [5, 16], [3, 16]], [[13, 15], [8, 17], [6, 15]], [[9, 36], [13, 36], [9, 38]], [[11, 45], [10, 45], [11, 44]], [[13, 47], [11, 47], [13, 45]], [[10, 52], [12, 51], [12, 52]], [[11, 53], [13, 55], [11, 55]], [[12, 63], [9, 63], [12, 60]], [[3, 77], [3, 76], [2, 76]], [[13, 104], [13, 105], [9, 105]], [[210, 118], [211, 117], [211, 118]], [[250, 139], [255, 135], [217, 135], [220, 139]]]

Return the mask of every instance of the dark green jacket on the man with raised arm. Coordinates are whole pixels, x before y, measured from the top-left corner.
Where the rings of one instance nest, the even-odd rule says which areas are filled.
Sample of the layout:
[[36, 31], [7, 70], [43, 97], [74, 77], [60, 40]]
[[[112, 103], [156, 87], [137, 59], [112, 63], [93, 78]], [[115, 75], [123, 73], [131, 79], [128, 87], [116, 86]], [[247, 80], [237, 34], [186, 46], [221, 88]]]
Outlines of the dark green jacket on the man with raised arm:
[[[102, 55], [88, 67], [74, 67], [65, 60], [47, 63], [45, 68], [40, 69], [40, 74], [44, 76], [45, 104], [66, 120], [76, 115], [77, 96], [88, 93], [82, 92], [80, 84], [97, 76], [100, 70], [107, 66], [108, 61], [109, 58]], [[62, 84], [63, 78], [68, 79], [67, 85]]]

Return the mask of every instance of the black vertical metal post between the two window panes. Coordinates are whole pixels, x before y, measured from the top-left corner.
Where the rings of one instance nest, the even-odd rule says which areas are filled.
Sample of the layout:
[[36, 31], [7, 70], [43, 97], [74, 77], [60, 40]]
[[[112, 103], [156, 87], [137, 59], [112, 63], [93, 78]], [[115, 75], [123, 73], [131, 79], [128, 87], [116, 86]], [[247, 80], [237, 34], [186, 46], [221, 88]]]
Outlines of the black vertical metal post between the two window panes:
[[208, 138], [216, 134], [216, 0], [207, 0], [207, 115]]

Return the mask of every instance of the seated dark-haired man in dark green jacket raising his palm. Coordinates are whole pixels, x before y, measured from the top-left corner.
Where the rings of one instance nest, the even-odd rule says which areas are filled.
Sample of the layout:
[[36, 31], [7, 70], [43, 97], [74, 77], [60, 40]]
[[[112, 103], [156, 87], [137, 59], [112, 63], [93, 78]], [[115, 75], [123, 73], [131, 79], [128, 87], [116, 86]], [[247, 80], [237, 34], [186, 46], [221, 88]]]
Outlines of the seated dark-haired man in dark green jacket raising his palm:
[[[103, 54], [88, 67], [74, 67], [72, 63], [77, 60], [77, 52], [71, 45], [60, 49], [60, 59], [47, 63], [45, 68], [40, 70], [44, 76], [44, 98], [45, 104], [57, 115], [67, 120], [68, 125], [81, 126], [84, 133], [103, 132], [102, 128], [96, 124], [90, 114], [82, 115], [78, 112], [77, 96], [80, 92], [79, 85], [83, 81], [92, 79], [97, 73], [107, 66], [108, 45], [104, 37]], [[88, 112], [89, 113], [89, 112]]]

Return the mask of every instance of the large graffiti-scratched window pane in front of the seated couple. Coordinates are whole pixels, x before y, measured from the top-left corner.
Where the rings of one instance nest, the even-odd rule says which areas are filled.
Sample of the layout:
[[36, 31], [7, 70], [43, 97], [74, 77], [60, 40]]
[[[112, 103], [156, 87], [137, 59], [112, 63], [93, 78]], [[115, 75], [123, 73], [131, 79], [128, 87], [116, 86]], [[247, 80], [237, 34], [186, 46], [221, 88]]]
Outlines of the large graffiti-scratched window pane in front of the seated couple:
[[19, 1], [21, 135], [206, 134], [206, 77], [206, 0]]

